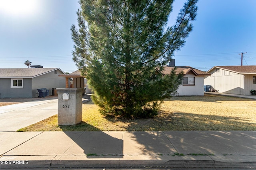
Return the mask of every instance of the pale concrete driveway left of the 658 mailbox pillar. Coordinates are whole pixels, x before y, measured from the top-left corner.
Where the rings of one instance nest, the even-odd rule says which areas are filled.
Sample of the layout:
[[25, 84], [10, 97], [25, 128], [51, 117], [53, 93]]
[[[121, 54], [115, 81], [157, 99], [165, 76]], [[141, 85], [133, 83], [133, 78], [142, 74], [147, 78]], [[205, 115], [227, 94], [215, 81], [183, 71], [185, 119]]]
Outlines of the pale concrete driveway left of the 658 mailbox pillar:
[[57, 97], [0, 107], [0, 132], [17, 131], [58, 113]]

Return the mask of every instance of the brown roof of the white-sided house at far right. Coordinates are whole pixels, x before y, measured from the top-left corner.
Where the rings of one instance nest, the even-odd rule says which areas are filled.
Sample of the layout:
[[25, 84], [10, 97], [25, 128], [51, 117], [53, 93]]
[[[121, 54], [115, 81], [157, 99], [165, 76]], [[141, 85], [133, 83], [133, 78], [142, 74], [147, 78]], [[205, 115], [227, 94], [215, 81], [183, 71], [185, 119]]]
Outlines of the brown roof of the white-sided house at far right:
[[256, 74], [256, 66], [214, 66], [207, 72], [210, 72], [214, 68], [221, 68], [239, 74]]

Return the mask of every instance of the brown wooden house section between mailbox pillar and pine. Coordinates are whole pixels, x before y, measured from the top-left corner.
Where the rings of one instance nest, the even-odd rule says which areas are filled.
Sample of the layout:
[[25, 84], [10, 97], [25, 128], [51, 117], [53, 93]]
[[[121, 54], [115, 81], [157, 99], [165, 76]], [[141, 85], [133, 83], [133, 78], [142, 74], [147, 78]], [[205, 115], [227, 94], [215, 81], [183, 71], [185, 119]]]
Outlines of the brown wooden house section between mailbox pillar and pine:
[[[66, 78], [66, 88], [84, 88], [84, 94], [91, 94], [91, 90], [88, 88], [87, 80], [84, 76], [82, 76], [80, 70], [76, 70], [70, 74], [59, 76]], [[69, 83], [69, 78], [73, 80], [72, 84]]]

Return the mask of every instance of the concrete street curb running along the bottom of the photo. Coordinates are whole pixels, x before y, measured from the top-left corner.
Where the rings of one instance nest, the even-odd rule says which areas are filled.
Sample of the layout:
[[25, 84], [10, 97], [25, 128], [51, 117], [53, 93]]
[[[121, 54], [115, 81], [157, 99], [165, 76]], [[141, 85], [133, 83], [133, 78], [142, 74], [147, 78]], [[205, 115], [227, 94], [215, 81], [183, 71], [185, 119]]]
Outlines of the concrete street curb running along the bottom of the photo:
[[[3, 156], [12, 163], [16, 156]], [[3, 158], [2, 157], [2, 158]], [[22, 160], [23, 156], [18, 156]], [[31, 156], [39, 158], [40, 156]], [[51, 157], [51, 156], [50, 156]], [[65, 157], [65, 156], [64, 156]], [[90, 157], [90, 158], [88, 158]], [[52, 156], [46, 160], [25, 160], [17, 164], [0, 164], [0, 169], [9, 168], [256, 168], [256, 161], [251, 162], [222, 162], [210, 160], [208, 156], [163, 156], [162, 159], [128, 160], [125, 156]], [[133, 156], [130, 156], [133, 157]], [[135, 156], [136, 157], [136, 156]], [[141, 158], [148, 155], [141, 155]], [[7, 158], [7, 159], [6, 159]], [[28, 158], [28, 156], [24, 156]], [[197, 160], [196, 160], [197, 159]], [[2, 163], [1, 159], [1, 163]], [[245, 160], [244, 160], [245, 161]], [[26, 164], [27, 163], [27, 164]]]

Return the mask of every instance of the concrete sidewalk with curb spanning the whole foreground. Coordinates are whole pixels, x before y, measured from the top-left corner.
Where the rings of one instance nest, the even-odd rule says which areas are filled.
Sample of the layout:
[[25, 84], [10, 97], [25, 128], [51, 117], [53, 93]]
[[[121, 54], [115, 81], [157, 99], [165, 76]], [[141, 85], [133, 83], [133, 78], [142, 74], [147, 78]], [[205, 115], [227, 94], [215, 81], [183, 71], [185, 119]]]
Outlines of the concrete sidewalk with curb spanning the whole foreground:
[[3, 168], [256, 168], [256, 131], [1, 132]]

